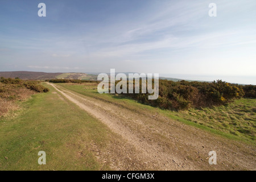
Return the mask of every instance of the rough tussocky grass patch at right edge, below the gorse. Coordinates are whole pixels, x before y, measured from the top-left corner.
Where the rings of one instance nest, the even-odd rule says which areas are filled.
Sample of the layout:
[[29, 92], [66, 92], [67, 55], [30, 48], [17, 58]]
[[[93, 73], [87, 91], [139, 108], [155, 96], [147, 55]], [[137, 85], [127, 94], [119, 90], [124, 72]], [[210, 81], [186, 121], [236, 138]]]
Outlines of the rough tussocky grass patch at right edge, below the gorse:
[[241, 98], [226, 106], [206, 107], [200, 110], [189, 109], [188, 111], [174, 112], [173, 114], [211, 129], [254, 141], [255, 113], [255, 99]]

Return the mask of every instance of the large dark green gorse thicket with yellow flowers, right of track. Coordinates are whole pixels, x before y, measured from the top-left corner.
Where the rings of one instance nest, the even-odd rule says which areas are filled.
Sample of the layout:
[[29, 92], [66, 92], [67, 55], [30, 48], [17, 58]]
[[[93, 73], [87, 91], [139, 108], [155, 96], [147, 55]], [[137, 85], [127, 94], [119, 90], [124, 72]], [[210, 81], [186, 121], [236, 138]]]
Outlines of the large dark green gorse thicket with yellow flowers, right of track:
[[148, 100], [148, 93], [125, 94], [125, 96], [134, 98], [143, 104], [171, 110], [224, 105], [244, 95], [241, 85], [229, 84], [221, 80], [210, 83], [159, 80], [159, 97], [157, 100]]

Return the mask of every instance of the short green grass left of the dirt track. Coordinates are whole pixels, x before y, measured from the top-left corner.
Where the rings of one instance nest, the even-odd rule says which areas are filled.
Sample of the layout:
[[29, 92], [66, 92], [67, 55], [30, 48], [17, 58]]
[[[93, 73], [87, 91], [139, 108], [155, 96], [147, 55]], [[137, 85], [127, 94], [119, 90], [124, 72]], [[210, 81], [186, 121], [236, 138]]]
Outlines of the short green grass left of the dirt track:
[[[34, 94], [0, 118], [0, 170], [109, 169], [95, 151], [104, 150], [114, 134], [47, 87], [50, 92]], [[47, 165], [38, 164], [39, 151], [46, 152]]]

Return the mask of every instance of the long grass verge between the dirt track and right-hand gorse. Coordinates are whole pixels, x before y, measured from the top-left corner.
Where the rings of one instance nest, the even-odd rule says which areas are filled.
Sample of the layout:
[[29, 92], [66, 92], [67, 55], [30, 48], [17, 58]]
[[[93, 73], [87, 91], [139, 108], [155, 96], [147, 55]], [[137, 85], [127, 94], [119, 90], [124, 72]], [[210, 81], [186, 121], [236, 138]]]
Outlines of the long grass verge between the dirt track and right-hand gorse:
[[152, 113], [162, 113], [167, 117], [183, 122], [187, 125], [195, 126], [222, 137], [241, 140], [255, 144], [255, 122], [256, 122], [256, 102], [255, 99], [241, 98], [226, 106], [214, 106], [186, 111], [162, 110], [156, 107], [143, 105], [116, 94], [99, 94], [97, 84], [60, 84], [64, 88], [73, 90], [85, 96], [101, 98], [109, 102], [128, 107], [131, 110], [148, 109]]

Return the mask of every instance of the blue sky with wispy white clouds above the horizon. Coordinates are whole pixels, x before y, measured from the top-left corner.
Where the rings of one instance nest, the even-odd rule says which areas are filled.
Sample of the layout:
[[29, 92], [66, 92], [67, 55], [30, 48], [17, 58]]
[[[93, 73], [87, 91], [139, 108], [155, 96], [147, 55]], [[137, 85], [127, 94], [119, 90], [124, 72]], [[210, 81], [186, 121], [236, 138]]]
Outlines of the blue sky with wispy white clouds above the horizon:
[[255, 0], [1, 0], [0, 71], [114, 68], [256, 85], [255, 7]]

